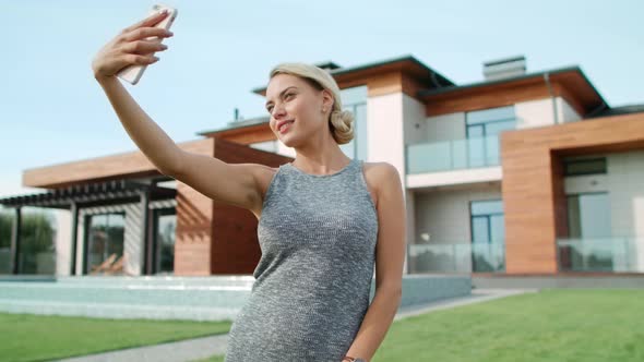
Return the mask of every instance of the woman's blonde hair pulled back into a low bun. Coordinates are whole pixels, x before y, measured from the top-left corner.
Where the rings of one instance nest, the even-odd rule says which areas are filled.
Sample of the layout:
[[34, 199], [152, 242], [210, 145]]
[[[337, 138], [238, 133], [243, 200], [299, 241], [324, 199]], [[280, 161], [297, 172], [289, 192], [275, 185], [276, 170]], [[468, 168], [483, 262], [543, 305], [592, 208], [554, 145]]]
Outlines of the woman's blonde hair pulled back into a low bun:
[[342, 110], [339, 87], [331, 74], [325, 70], [307, 63], [281, 63], [271, 71], [270, 79], [277, 74], [296, 75], [315, 89], [327, 89], [333, 95], [333, 107], [329, 116], [329, 128], [338, 145], [349, 143], [354, 138], [354, 113]]

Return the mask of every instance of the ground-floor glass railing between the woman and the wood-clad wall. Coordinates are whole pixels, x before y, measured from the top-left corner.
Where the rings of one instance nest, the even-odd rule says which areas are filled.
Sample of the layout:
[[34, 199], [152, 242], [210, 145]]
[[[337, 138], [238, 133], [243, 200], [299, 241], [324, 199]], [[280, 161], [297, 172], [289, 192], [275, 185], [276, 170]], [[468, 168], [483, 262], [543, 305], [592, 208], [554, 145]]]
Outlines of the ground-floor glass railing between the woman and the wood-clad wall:
[[409, 245], [410, 273], [503, 273], [505, 243], [431, 243]]

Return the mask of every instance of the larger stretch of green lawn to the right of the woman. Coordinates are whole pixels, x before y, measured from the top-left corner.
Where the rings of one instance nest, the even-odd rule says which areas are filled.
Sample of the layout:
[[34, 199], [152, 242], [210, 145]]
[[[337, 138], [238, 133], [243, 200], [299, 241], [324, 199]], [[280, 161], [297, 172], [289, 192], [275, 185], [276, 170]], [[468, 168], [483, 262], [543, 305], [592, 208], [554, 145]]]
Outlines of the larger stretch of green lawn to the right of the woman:
[[396, 321], [371, 361], [641, 362], [644, 290], [545, 290]]

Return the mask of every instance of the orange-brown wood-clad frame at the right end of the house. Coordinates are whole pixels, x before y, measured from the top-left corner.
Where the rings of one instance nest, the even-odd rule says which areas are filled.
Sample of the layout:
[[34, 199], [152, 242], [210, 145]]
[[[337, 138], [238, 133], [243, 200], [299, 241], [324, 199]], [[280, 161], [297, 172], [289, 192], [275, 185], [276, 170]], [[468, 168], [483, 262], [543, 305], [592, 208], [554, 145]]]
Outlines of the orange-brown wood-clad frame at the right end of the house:
[[556, 274], [565, 237], [561, 157], [644, 149], [644, 113], [501, 134], [506, 274]]

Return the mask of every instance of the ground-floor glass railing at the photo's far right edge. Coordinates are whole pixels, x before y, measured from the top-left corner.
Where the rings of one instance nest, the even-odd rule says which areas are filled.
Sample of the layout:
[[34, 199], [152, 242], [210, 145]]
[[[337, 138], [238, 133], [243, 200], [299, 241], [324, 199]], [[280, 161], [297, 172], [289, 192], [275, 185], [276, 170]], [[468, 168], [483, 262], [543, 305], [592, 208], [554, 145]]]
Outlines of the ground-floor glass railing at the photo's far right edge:
[[560, 272], [641, 273], [644, 237], [557, 239]]

